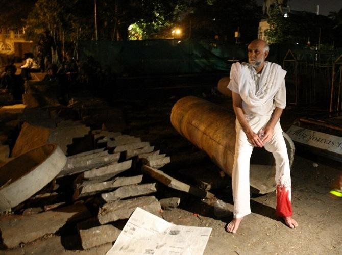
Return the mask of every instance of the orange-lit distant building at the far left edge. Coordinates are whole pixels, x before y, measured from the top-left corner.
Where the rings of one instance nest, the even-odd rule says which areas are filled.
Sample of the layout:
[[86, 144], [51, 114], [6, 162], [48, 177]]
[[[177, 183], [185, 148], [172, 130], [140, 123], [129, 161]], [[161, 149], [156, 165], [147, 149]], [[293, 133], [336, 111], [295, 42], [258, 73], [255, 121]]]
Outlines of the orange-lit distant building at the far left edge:
[[24, 39], [25, 31], [21, 29], [9, 30], [0, 28], [0, 54], [22, 57], [32, 50], [32, 42]]

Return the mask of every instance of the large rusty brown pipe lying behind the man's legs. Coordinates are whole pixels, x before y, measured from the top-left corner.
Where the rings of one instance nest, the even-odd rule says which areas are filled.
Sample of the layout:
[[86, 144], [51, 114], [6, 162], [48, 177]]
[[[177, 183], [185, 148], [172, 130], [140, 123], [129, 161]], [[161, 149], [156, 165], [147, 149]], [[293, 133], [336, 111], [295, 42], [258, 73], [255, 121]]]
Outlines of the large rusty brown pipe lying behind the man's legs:
[[[198, 97], [186, 96], [176, 102], [170, 120], [182, 136], [204, 150], [214, 164], [232, 176], [236, 136], [233, 111]], [[291, 166], [295, 145], [286, 133], [283, 135]], [[258, 149], [254, 149], [253, 154], [256, 151], [260, 156], [252, 154], [250, 185], [256, 189], [255, 193], [265, 194], [275, 190], [275, 165], [272, 154], [264, 149], [258, 152]], [[253, 158], [257, 159], [257, 164]]]

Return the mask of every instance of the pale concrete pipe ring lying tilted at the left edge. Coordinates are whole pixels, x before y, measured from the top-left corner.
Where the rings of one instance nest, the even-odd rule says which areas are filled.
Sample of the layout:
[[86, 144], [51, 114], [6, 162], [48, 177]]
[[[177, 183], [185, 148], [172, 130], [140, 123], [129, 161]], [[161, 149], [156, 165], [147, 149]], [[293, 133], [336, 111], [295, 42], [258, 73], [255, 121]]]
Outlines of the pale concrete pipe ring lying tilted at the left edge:
[[32, 149], [0, 167], [0, 211], [30, 198], [53, 180], [66, 157], [55, 143]]

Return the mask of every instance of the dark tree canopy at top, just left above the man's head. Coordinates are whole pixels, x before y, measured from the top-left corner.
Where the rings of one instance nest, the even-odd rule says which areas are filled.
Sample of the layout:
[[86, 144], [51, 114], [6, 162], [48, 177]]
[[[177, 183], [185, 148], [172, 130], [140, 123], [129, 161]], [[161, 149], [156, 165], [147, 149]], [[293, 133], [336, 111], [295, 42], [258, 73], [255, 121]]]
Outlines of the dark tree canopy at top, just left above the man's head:
[[185, 30], [191, 30], [191, 38], [208, 39], [217, 35], [235, 43], [234, 32], [238, 28], [241, 33], [239, 42], [249, 42], [258, 35], [262, 10], [255, 0], [240, 0], [238, 3], [234, 0], [195, 0], [191, 7], [182, 21]]

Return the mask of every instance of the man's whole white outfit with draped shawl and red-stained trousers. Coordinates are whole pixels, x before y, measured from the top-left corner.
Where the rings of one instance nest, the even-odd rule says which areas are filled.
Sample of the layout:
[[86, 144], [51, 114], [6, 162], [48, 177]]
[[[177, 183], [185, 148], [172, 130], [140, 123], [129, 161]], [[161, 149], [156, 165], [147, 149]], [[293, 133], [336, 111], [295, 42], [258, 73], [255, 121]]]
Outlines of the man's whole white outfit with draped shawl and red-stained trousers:
[[[242, 110], [255, 133], [264, 128], [276, 107], [285, 108], [285, 74], [279, 65], [270, 62], [265, 62], [261, 74], [257, 74], [250, 64], [233, 64], [228, 88], [241, 96]], [[276, 161], [277, 214], [282, 217], [291, 216], [290, 167], [279, 121], [274, 128], [272, 139], [264, 147], [272, 152]], [[249, 180], [252, 151], [253, 145], [236, 119], [235, 160], [232, 172], [234, 218], [251, 213]]]

